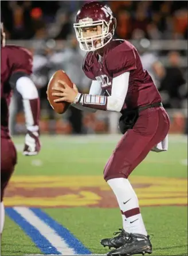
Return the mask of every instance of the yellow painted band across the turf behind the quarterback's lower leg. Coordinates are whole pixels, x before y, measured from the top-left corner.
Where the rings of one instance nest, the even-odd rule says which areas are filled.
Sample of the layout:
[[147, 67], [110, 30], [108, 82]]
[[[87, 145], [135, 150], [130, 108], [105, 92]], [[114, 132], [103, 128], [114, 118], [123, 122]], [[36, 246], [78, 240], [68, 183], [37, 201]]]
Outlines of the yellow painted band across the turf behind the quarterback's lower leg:
[[[187, 204], [187, 179], [132, 176], [130, 182], [140, 206]], [[24, 189], [25, 194], [17, 195], [18, 188]], [[27, 193], [31, 195], [32, 191], [40, 188], [57, 190], [57, 196], [26, 197]], [[14, 196], [5, 197], [5, 205], [73, 207], [103, 204], [104, 199], [97, 192], [91, 192], [91, 188], [97, 189], [100, 194], [105, 191], [113, 194], [102, 176], [13, 176], [8, 190]], [[67, 193], [66, 189], [69, 189]]]

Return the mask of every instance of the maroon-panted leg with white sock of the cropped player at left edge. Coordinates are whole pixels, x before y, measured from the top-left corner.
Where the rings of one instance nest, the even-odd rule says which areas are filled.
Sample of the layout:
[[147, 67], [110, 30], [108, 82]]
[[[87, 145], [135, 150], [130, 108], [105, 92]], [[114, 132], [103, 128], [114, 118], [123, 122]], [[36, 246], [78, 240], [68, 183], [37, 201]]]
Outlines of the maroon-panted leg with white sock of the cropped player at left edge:
[[17, 156], [13, 142], [9, 139], [1, 138], [1, 234], [5, 222], [3, 196], [11, 174], [14, 171], [16, 160]]

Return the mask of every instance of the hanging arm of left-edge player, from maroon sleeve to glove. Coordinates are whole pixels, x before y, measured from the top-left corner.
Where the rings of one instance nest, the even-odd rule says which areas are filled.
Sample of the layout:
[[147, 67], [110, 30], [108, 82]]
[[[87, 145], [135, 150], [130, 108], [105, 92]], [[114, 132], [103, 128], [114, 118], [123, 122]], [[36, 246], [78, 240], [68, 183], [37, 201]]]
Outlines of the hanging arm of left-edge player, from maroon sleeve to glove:
[[37, 88], [32, 79], [30, 79], [33, 58], [29, 51], [17, 47], [11, 49], [9, 62], [11, 67], [13, 67], [13, 74], [10, 77], [9, 83], [12, 88], [16, 88], [22, 95], [25, 113], [27, 133], [23, 155], [36, 155], [41, 147], [38, 127], [40, 99]]

